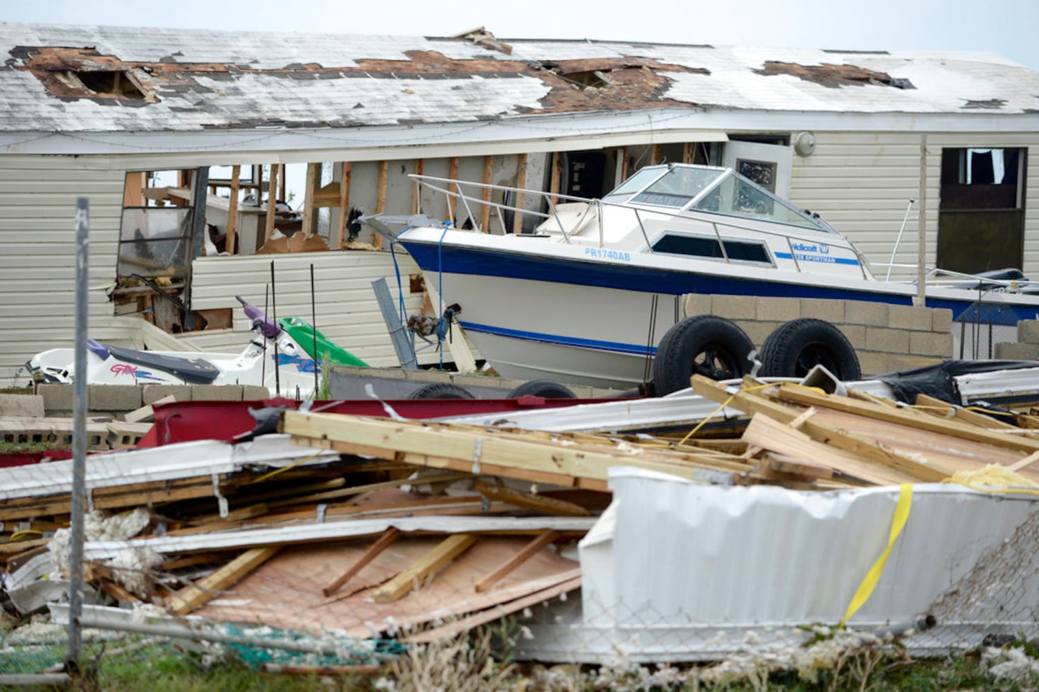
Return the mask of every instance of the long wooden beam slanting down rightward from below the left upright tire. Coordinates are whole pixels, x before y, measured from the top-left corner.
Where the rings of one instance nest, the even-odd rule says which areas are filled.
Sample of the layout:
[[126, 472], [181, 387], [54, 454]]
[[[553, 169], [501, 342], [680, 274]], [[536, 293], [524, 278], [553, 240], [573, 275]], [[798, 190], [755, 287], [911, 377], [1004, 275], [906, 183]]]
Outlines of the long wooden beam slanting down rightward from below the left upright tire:
[[[784, 405], [766, 399], [757, 393], [736, 391], [730, 393], [724, 385], [702, 375], [693, 375], [693, 391], [700, 396], [713, 401], [728, 402], [732, 407], [740, 408], [748, 414], [762, 414], [782, 423], [790, 423], [800, 416], [801, 410], [796, 406]], [[771, 388], [775, 389], [775, 388]], [[801, 388], [805, 389], [805, 388]], [[805, 391], [807, 391], [805, 389]], [[844, 397], [833, 397], [844, 398]], [[853, 402], [862, 403], [862, 402]], [[814, 405], [814, 404], [812, 404]], [[878, 406], [878, 408], [885, 408]], [[890, 410], [890, 409], [886, 409]], [[920, 418], [929, 418], [921, 416]], [[827, 445], [837, 447], [855, 456], [874, 463], [886, 467], [905, 477], [924, 481], [940, 482], [951, 474], [935, 469], [918, 458], [901, 454], [897, 450], [886, 445], [882, 445], [875, 440], [870, 440], [861, 434], [847, 432], [838, 427], [826, 425], [819, 422], [819, 415], [812, 416], [804, 421], [800, 429], [812, 440], [824, 442]]]

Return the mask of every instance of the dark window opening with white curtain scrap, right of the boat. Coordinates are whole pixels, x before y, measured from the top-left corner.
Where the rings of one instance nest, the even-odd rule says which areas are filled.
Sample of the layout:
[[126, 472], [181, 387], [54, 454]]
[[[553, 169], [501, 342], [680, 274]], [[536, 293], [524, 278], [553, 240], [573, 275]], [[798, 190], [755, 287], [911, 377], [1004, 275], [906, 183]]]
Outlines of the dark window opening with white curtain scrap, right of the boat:
[[1024, 259], [1027, 149], [941, 151], [937, 265], [975, 273]]

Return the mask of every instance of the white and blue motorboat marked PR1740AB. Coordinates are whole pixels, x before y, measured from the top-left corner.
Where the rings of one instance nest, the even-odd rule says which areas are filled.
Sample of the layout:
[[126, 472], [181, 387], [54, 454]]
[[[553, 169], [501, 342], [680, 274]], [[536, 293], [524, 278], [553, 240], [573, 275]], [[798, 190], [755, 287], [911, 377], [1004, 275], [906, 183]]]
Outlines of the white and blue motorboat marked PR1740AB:
[[[648, 166], [602, 199], [414, 178], [417, 198], [443, 194], [448, 217], [468, 216], [476, 228], [421, 213], [363, 222], [406, 248], [445, 304], [460, 305], [461, 326], [506, 377], [623, 388], [649, 381], [660, 369], [652, 363], [659, 349], [690, 342], [674, 336], [687, 294], [910, 305], [918, 293], [918, 280], [876, 278], [825, 220], [730, 168]], [[501, 229], [528, 232], [482, 233], [479, 221], [489, 225], [491, 213]], [[1019, 273], [931, 271], [924, 287], [927, 307], [948, 308], [954, 319], [977, 310], [980, 298], [996, 308], [990, 314], [997, 324], [1039, 316], [1039, 283]], [[717, 334], [696, 342], [705, 352], [678, 357], [699, 357], [694, 369], [719, 377], [746, 372], [749, 366], [724, 352], [738, 337], [723, 322], [686, 327]]]

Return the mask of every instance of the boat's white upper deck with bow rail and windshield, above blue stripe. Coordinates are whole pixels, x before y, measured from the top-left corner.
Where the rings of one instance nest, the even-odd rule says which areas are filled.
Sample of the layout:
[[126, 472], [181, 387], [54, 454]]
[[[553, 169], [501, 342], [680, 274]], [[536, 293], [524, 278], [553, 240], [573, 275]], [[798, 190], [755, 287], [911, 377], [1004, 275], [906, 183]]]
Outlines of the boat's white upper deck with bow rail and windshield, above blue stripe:
[[[594, 199], [412, 175], [416, 198], [428, 201], [431, 196], [428, 193], [432, 192], [432, 196], [443, 199], [437, 206], [446, 209], [449, 219], [467, 218], [468, 225], [472, 228], [459, 228], [453, 221], [433, 218], [422, 213], [421, 209], [410, 215], [367, 215], [359, 221], [379, 235], [397, 240], [404, 231], [412, 228], [490, 234], [494, 215], [498, 225], [496, 231], [517, 238], [645, 255], [677, 255], [693, 260], [752, 264], [762, 268], [782, 266], [795, 272], [819, 269], [819, 266], [805, 266], [810, 262], [819, 264], [820, 257], [812, 251], [814, 248], [825, 248], [825, 251], [834, 248], [846, 255], [835, 260], [837, 266], [844, 265], [859, 278], [874, 281], [865, 259], [847, 238], [818, 216], [794, 208], [731, 169], [677, 165], [657, 168], [662, 172], [704, 169], [716, 180], [696, 194], [685, 196], [650, 194], [646, 189], [651, 189], [652, 185], [629, 187], [629, 190], [635, 189], [634, 193], [629, 193], [624, 192], [628, 186], [624, 183], [603, 199]], [[729, 185], [731, 189], [726, 188], [725, 182], [729, 180], [736, 181], [740, 187]], [[424, 195], [424, 192], [427, 194]], [[737, 199], [740, 194], [743, 194], [743, 203]], [[428, 202], [426, 204], [429, 205]], [[720, 213], [714, 210], [716, 207], [731, 213]], [[766, 213], [762, 210], [771, 211]], [[391, 227], [404, 228], [394, 231]], [[521, 230], [523, 232], [512, 233]], [[674, 238], [682, 240], [681, 248], [675, 248], [673, 242], [667, 242]]]

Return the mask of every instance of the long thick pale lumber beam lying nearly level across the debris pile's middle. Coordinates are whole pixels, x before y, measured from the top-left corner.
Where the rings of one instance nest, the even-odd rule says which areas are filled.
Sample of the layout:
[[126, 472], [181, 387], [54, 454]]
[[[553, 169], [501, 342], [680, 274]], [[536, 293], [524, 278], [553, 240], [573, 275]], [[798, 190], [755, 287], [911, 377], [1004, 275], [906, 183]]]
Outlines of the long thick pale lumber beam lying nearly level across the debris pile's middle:
[[602, 491], [609, 490], [609, 469], [617, 465], [701, 482], [717, 480], [725, 474], [730, 483], [741, 482], [738, 475], [752, 470], [745, 459], [717, 453], [620, 446], [607, 444], [606, 438], [605, 444], [585, 445], [572, 440], [539, 438], [496, 428], [431, 421], [284, 411], [279, 427], [293, 435], [297, 444], [322, 449]]

